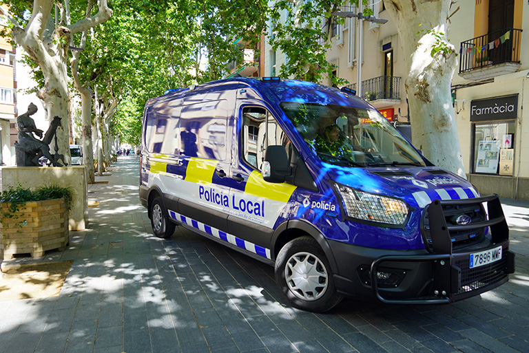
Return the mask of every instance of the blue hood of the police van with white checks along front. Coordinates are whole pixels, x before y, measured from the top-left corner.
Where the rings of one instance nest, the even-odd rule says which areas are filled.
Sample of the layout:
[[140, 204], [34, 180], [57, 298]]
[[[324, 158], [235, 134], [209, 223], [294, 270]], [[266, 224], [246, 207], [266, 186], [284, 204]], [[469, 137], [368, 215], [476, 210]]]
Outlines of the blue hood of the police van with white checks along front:
[[331, 180], [367, 193], [397, 197], [410, 206], [424, 208], [433, 200], [479, 197], [472, 184], [439, 167], [351, 168], [332, 166]]

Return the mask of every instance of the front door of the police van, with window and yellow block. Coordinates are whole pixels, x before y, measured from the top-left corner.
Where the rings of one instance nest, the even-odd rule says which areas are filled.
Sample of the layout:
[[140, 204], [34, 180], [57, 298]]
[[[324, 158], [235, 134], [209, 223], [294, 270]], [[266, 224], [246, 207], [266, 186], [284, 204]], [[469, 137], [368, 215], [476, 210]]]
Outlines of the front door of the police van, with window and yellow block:
[[[267, 145], [291, 146], [269, 109], [262, 105], [244, 105], [238, 109], [236, 127], [238, 148], [233, 149], [231, 162], [229, 232], [246, 244], [247, 250], [264, 248], [269, 257], [269, 246], [274, 229], [287, 219], [289, 200], [296, 186], [273, 184], [262, 179], [261, 167]], [[267, 125], [268, 116], [268, 125]]]

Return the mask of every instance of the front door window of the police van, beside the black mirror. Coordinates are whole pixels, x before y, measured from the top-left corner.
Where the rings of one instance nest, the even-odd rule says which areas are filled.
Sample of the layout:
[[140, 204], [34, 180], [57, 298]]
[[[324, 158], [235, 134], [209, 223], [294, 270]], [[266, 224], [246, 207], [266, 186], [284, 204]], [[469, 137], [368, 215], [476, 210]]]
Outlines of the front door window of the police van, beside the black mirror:
[[[245, 107], [242, 109], [242, 146], [243, 158], [253, 168], [261, 170], [264, 158], [264, 141], [267, 134], [267, 110], [260, 107]], [[289, 156], [293, 154], [293, 147], [272, 114], [268, 113], [268, 145], [281, 145], [287, 149]]]

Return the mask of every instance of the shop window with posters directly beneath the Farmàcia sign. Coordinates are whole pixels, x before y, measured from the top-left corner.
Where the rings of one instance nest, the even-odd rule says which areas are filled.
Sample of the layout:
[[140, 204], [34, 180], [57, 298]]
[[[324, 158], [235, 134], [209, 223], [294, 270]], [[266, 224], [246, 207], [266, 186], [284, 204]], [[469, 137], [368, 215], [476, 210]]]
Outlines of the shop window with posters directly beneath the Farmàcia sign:
[[515, 131], [515, 121], [474, 125], [474, 173], [512, 175]]

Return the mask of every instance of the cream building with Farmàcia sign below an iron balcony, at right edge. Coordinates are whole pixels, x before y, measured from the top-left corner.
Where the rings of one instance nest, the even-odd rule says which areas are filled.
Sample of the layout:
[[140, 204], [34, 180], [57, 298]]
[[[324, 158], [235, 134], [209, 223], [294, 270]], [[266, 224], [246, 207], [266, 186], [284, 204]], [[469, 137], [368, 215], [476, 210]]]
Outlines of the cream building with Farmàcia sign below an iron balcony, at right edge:
[[529, 3], [457, 6], [449, 37], [459, 47], [452, 93], [468, 179], [483, 194], [529, 200]]

